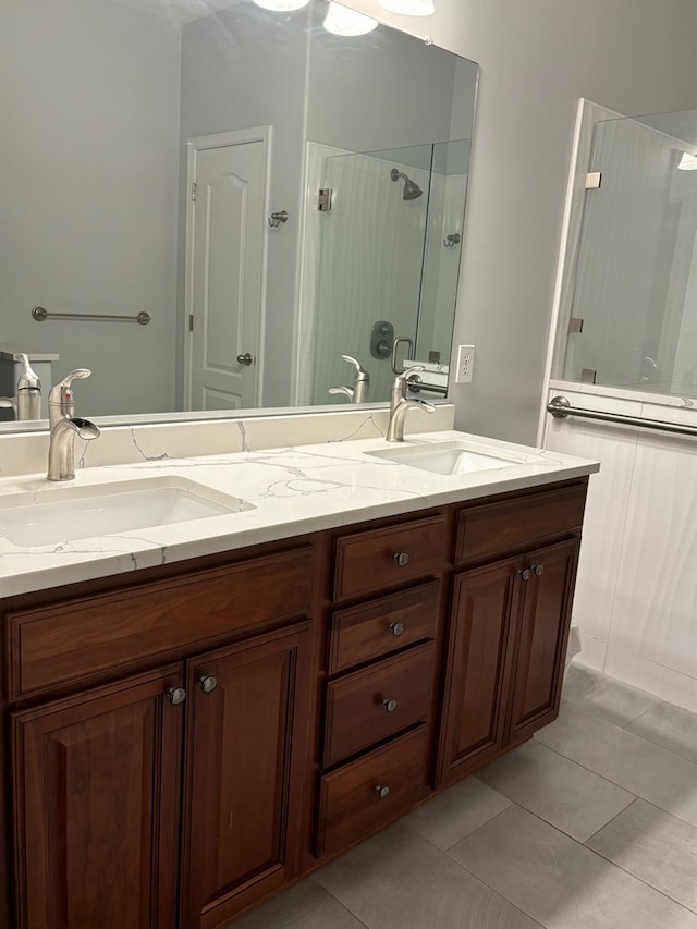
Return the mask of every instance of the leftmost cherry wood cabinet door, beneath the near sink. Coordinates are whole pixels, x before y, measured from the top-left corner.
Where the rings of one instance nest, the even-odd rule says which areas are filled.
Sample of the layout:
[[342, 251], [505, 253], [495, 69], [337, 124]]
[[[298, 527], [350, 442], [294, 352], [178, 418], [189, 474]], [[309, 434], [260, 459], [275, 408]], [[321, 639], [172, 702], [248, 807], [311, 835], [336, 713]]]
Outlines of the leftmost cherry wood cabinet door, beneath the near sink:
[[17, 929], [172, 929], [173, 665], [12, 716]]

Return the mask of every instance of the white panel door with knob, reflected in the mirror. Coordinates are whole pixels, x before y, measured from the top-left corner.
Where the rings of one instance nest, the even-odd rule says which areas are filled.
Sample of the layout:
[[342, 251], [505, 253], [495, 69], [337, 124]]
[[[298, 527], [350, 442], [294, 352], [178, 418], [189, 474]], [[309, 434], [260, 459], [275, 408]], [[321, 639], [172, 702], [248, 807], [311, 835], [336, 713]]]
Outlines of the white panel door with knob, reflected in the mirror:
[[248, 142], [195, 154], [188, 224], [192, 410], [240, 410], [258, 402], [265, 148], [264, 142]]

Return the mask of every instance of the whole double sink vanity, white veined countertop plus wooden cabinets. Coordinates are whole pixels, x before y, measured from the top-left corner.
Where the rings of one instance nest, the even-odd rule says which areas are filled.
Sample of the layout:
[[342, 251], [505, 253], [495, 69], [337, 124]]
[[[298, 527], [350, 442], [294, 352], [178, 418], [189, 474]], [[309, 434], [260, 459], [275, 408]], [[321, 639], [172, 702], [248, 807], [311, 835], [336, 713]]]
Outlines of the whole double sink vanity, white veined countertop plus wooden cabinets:
[[0, 925], [223, 927], [554, 719], [598, 466], [452, 416], [103, 430], [75, 481], [0, 479]]

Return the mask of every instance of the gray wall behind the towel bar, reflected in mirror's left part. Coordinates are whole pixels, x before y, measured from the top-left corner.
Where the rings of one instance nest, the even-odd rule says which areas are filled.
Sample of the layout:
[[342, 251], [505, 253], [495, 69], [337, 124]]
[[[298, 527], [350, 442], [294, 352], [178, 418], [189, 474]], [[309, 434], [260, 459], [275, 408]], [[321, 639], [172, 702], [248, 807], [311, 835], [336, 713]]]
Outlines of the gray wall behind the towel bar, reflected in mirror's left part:
[[174, 406], [179, 59], [178, 28], [122, 3], [2, 4], [0, 341], [59, 353], [54, 380], [91, 368], [84, 416]]

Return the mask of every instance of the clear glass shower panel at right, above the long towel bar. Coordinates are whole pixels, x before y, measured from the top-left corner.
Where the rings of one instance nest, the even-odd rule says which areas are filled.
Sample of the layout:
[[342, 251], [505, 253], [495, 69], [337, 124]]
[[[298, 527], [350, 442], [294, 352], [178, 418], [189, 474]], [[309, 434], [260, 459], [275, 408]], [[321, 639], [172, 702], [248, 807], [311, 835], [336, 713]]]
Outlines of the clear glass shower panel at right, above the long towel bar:
[[557, 377], [697, 398], [695, 169], [697, 111], [596, 123]]

